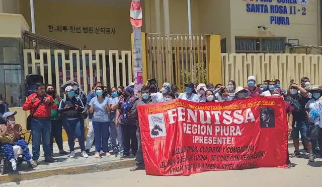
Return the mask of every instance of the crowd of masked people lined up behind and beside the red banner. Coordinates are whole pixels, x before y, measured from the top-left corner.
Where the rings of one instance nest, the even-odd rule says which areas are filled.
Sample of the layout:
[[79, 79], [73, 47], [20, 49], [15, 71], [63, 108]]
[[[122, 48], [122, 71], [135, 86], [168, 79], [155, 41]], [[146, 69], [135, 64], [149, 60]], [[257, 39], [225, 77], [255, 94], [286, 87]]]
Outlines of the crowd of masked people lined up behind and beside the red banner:
[[[75, 140], [81, 148], [81, 156], [89, 157], [91, 148], [95, 145], [96, 158], [119, 154], [121, 159], [135, 158], [136, 165], [131, 171], [144, 169], [141, 136], [137, 117], [137, 105], [165, 102], [172, 99], [184, 99], [193, 102], [224, 102], [235, 99], [244, 99], [256, 96], [278, 96], [285, 100], [288, 116], [288, 129], [292, 134], [295, 151], [290, 157], [301, 155], [299, 150], [299, 134], [308, 152], [308, 160], [314, 161], [316, 154], [321, 154], [322, 141], [320, 136], [307, 134], [309, 128], [322, 128], [320, 115], [322, 113], [321, 92], [318, 85], [311, 85], [309, 79], [303, 77], [299, 84], [293, 80], [286, 89], [280, 87], [280, 81], [269, 79], [257, 83], [255, 76], [247, 79], [246, 87], [236, 85], [231, 80], [227, 86], [222, 84], [185, 84], [184, 92], [179, 93], [178, 86], [164, 83], [158, 88], [156, 80], [149, 80], [141, 89], [138, 98], [134, 94], [134, 84], [123, 87], [108, 88], [100, 82], [94, 84], [92, 92], [88, 95], [79, 87], [76, 81], [68, 81], [61, 85], [66, 97], [61, 99], [53, 85], [45, 86], [37, 83], [36, 92], [31, 94], [23, 105], [24, 110], [31, 112], [32, 156], [27, 143], [20, 139], [21, 126], [15, 123], [17, 112], [8, 111], [2, 107], [0, 100], [0, 113], [4, 125], [0, 125], [0, 136], [14, 139], [14, 144], [23, 146], [25, 161], [32, 167], [37, 167], [40, 143], [44, 150], [45, 162], [57, 162], [53, 158], [53, 139], [59, 148], [60, 154], [69, 154], [75, 157]], [[2, 111], [5, 108], [6, 111]], [[89, 118], [88, 134], [85, 145], [85, 119]], [[64, 151], [62, 145], [62, 129], [68, 137], [69, 153]], [[10, 145], [14, 145], [10, 144]], [[12, 146], [5, 144], [4, 149], [8, 159], [15, 169]], [[290, 163], [288, 159], [288, 164]]]

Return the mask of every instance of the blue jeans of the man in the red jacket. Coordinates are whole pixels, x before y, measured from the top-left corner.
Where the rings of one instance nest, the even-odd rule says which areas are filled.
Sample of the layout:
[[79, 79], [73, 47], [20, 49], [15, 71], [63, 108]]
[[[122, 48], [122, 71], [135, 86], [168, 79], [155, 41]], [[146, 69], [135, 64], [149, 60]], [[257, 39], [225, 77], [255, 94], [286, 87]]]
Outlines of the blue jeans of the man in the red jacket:
[[50, 119], [31, 119], [31, 133], [32, 133], [32, 159], [38, 160], [40, 152], [40, 142], [42, 142], [42, 149], [45, 157], [51, 157], [50, 150], [50, 134], [51, 134], [51, 120]]

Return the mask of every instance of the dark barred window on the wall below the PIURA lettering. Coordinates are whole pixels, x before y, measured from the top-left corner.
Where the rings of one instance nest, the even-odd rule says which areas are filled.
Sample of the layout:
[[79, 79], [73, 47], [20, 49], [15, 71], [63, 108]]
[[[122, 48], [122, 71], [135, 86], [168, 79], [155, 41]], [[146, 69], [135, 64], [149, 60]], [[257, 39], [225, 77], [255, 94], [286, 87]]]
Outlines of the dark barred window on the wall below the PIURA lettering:
[[236, 53], [283, 53], [285, 38], [235, 38]]

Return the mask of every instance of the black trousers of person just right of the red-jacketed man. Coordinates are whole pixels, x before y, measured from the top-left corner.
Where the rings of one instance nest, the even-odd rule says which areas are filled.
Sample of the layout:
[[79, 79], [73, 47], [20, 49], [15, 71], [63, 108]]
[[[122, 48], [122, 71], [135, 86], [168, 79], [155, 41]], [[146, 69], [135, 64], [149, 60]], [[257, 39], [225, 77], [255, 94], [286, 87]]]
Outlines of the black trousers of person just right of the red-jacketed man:
[[53, 152], [54, 138], [59, 150], [62, 150], [62, 120], [51, 120], [50, 148]]

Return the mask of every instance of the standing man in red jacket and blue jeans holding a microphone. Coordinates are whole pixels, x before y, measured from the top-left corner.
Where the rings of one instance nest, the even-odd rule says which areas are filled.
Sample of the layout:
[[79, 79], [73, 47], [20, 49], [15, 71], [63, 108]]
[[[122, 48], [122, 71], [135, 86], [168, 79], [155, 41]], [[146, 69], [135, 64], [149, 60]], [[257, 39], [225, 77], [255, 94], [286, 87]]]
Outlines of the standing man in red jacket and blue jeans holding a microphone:
[[50, 131], [51, 109], [56, 110], [54, 99], [50, 95], [46, 95], [45, 85], [36, 83], [36, 93], [29, 95], [23, 105], [23, 110], [30, 110], [34, 114], [31, 118], [31, 133], [32, 133], [32, 159], [37, 163], [40, 152], [40, 142], [42, 140], [42, 148], [45, 153], [45, 162], [56, 162], [51, 156]]

